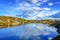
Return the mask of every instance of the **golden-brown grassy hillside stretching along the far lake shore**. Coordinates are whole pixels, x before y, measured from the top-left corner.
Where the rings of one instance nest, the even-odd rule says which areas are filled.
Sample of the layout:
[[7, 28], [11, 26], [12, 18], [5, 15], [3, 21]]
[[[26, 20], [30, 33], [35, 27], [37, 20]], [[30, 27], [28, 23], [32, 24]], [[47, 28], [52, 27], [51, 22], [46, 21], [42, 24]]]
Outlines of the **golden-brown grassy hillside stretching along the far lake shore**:
[[26, 19], [10, 17], [10, 16], [0, 16], [0, 28], [19, 26], [28, 23], [43, 23], [43, 24], [54, 25], [56, 21], [55, 20], [26, 20]]

